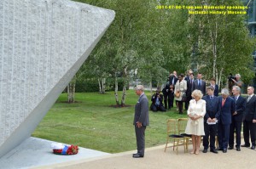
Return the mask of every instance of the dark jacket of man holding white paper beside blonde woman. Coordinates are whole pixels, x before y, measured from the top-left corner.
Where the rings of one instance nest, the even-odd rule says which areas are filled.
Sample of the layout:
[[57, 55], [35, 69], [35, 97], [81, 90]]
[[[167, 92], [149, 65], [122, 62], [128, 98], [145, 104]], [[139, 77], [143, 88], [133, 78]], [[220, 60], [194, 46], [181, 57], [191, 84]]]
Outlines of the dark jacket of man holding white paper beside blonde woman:
[[206, 100], [207, 102], [207, 113], [204, 116], [204, 121], [207, 122], [207, 119], [210, 118], [215, 118], [217, 113], [218, 113], [218, 109], [219, 109], [219, 99], [218, 97], [213, 95], [213, 99], [210, 99], [210, 96], [204, 96], [202, 99]]

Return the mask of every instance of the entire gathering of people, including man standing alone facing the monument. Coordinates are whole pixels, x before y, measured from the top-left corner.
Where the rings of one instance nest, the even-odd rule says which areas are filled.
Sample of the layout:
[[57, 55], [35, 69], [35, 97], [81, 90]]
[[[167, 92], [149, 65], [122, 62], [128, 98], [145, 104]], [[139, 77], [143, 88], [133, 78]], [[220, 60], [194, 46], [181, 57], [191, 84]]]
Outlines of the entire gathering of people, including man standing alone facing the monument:
[[[189, 120], [186, 127], [186, 133], [191, 135], [193, 149], [191, 154], [198, 155], [201, 145], [201, 136], [203, 136], [203, 153], [207, 153], [210, 148], [212, 153], [218, 153], [222, 150], [224, 153], [227, 149], [241, 151], [241, 147], [250, 147], [255, 149], [256, 139], [256, 96], [254, 87], [247, 87], [247, 97], [241, 96], [240, 75], [236, 75], [234, 85], [231, 91], [228, 88], [221, 90], [221, 96], [218, 96], [218, 85], [212, 78], [210, 85], [206, 87], [206, 82], [201, 79], [201, 74], [194, 79], [193, 72], [183, 78], [183, 75], [175, 77], [175, 71], [169, 78], [168, 87], [165, 87], [167, 97], [160, 94], [160, 90], [152, 96], [150, 109], [165, 110], [165, 106], [171, 109], [173, 99], [177, 101], [179, 113], [183, 113], [183, 94], [186, 94], [185, 109], [188, 110]], [[149, 125], [148, 120], [148, 99], [144, 94], [143, 86], [136, 87], [136, 93], [139, 96], [135, 106], [134, 126], [137, 138], [137, 153], [133, 154], [134, 158], [144, 156], [145, 149], [145, 130]], [[231, 92], [231, 94], [230, 94]], [[172, 93], [173, 95], [170, 95]], [[176, 93], [180, 93], [177, 96]], [[170, 99], [169, 99], [170, 98]], [[168, 100], [168, 104], [166, 101]], [[160, 104], [161, 103], [161, 104]], [[243, 124], [244, 143], [241, 145], [241, 126]], [[235, 137], [236, 133], [236, 145]], [[218, 136], [218, 149], [215, 147], [215, 137]], [[210, 139], [209, 139], [210, 138]], [[210, 143], [209, 143], [210, 140]], [[251, 142], [250, 142], [251, 141]]]

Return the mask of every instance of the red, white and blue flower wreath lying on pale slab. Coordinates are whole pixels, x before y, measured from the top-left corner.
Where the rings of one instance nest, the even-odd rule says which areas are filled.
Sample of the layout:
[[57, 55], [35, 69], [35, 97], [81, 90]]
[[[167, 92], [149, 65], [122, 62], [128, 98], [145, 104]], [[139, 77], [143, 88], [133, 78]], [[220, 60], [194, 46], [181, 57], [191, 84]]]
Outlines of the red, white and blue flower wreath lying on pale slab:
[[79, 153], [77, 145], [51, 144], [51, 148], [56, 155], [76, 155]]

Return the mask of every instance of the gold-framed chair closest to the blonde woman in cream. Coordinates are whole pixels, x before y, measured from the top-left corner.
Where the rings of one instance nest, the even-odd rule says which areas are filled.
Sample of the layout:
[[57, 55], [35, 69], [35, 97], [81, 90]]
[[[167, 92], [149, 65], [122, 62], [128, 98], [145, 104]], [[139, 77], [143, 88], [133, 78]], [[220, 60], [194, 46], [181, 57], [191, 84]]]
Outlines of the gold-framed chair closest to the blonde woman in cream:
[[184, 138], [185, 152], [189, 151], [189, 143], [191, 143], [191, 135], [185, 133], [187, 123], [188, 123], [188, 118], [178, 118], [177, 119], [177, 131], [178, 131], [178, 134], [183, 136], [183, 138]]

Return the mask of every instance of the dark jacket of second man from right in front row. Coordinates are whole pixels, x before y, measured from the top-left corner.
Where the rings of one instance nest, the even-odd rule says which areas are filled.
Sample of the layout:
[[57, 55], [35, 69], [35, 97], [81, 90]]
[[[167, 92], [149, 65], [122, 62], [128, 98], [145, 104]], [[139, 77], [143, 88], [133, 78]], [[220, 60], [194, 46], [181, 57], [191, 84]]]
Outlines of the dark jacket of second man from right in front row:
[[[232, 96], [235, 100], [235, 96]], [[246, 109], [247, 99], [239, 96], [237, 100], [235, 100], [235, 110], [237, 112], [236, 115], [232, 115], [232, 121], [235, 122], [242, 122], [243, 121], [243, 112]]]

